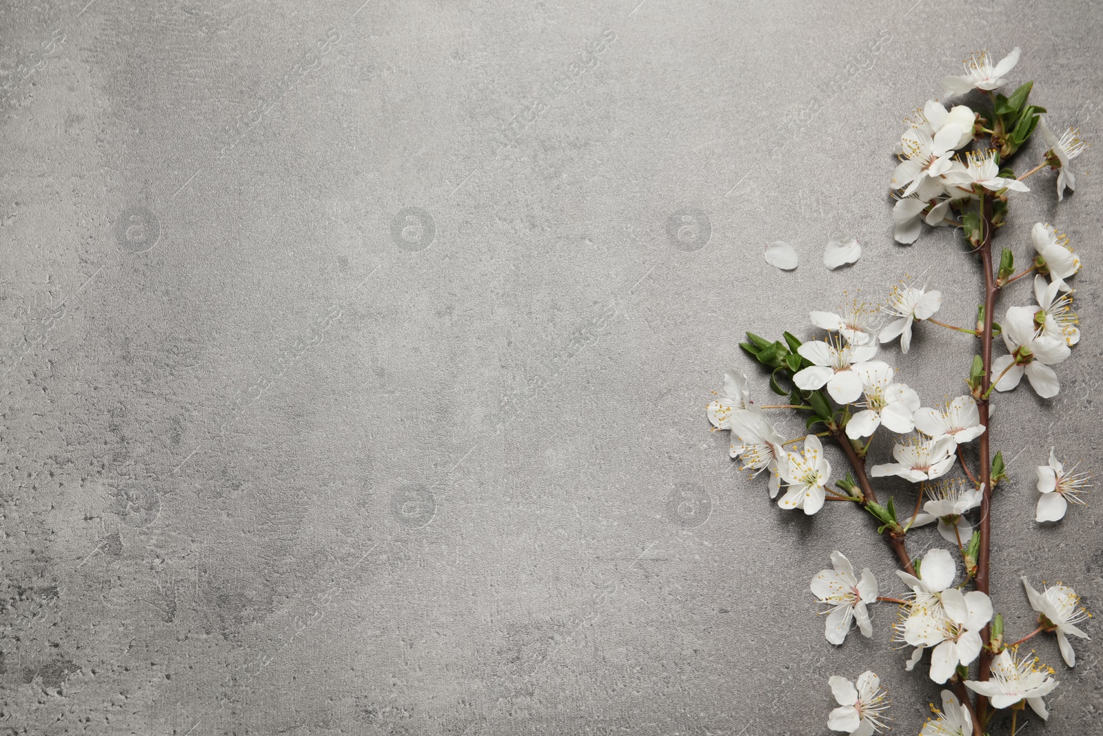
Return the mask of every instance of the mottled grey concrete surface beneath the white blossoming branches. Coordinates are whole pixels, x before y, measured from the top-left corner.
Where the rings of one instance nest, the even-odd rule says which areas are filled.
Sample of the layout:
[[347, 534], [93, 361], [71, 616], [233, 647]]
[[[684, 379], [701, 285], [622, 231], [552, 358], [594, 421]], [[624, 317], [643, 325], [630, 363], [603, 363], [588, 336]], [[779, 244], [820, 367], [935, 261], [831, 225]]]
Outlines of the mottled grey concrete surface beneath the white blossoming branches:
[[[771, 504], [704, 407], [728, 365], [767, 393], [743, 330], [858, 288], [928, 278], [967, 322], [952, 234], [891, 239], [900, 119], [1021, 45], [1099, 139], [1103, 8], [361, 1], [0, 9], [3, 733], [825, 734], [867, 666], [917, 733], [938, 687], [891, 607], [833, 651], [806, 590], [838, 547], [901, 593], [888, 550]], [[1019, 634], [1024, 573], [1103, 601], [1097, 508], [1032, 521], [1050, 444], [1099, 462], [1103, 190], [1052, 181], [1000, 234], [1053, 221], [1085, 263], [1062, 393], [997, 407]], [[836, 233], [865, 256], [828, 273]], [[885, 353], [928, 403], [973, 346], [936, 329]], [[1045, 733], [1103, 733], [1075, 646], [1038, 643]]]

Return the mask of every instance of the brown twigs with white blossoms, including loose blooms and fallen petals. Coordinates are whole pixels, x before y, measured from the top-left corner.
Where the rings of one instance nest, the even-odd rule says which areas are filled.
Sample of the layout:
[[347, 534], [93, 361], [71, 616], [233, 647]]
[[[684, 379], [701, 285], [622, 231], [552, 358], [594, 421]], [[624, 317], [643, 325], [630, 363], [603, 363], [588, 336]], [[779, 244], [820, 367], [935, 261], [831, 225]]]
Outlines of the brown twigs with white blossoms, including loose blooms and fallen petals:
[[[1060, 137], [1052, 134], [1040, 117], [1041, 108], [1026, 104], [1029, 83], [1011, 98], [993, 92], [1007, 82], [1006, 75], [1018, 58], [1018, 49], [998, 63], [993, 63], [987, 52], [975, 54], [965, 62], [964, 75], [942, 81], [952, 94], [972, 89], [988, 93], [994, 105], [992, 119], [965, 105], [947, 109], [930, 100], [908, 120], [909, 129], [897, 151], [901, 160], [891, 181], [898, 199], [893, 206], [897, 241], [913, 243], [924, 222], [935, 226], [953, 224], [965, 230], [965, 237], [989, 264], [992, 232], [1004, 224], [1009, 193], [1030, 191], [1024, 179], [1048, 166], [1058, 171], [1059, 200], [1065, 190], [1075, 186], [1069, 162], [1086, 148], [1078, 134], [1073, 130]], [[1007, 117], [1013, 114], [1014, 130], [1008, 128], [1011, 118]], [[1049, 149], [1041, 164], [1016, 178], [1002, 168], [1000, 158], [1014, 153], [1035, 126]], [[992, 136], [994, 148], [965, 150], [982, 134]], [[984, 540], [990, 527], [975, 515], [981, 509], [988, 512], [993, 488], [1007, 480], [1002, 456], [990, 459], [985, 441], [992, 416], [989, 394], [1010, 391], [1026, 376], [1039, 396], [1056, 396], [1060, 383], [1051, 366], [1067, 360], [1071, 348], [1080, 341], [1079, 318], [1072, 309], [1074, 290], [1069, 279], [1080, 270], [1081, 262], [1069, 247], [1068, 237], [1053, 226], [1038, 223], [1030, 234], [1035, 255], [1029, 267], [1013, 275], [1014, 258], [1005, 250], [997, 274], [986, 279], [986, 294], [992, 299], [996, 290], [1034, 273], [1036, 303], [1010, 307], [1002, 326], [996, 328], [998, 333], [992, 329], [992, 314], [983, 310], [977, 324], [967, 329], [940, 322], [934, 316], [942, 307], [942, 292], [927, 284], [901, 282], [881, 308], [887, 319], [880, 324], [872, 309], [855, 301], [838, 312], [810, 312], [812, 326], [828, 333], [822, 340], [802, 341], [785, 332], [784, 343], [770, 343], [748, 333], [751, 342], [742, 348], [769, 366], [773, 372], [771, 388], [782, 395], [790, 392], [790, 403], [756, 404], [750, 398], [747, 377], [729, 370], [725, 373], [722, 394], [708, 405], [707, 416], [714, 428], [731, 433], [730, 455], [741, 460], [743, 469], [753, 474], [769, 471], [770, 498], [777, 499], [780, 508], [800, 509], [811, 515], [821, 511], [827, 500], [858, 503], [878, 520], [878, 532], [893, 544], [907, 569], [897, 570], [910, 590], [902, 598], [881, 597], [870, 568], [856, 575], [854, 565], [837, 550], [831, 555], [832, 568], [812, 578], [810, 590], [825, 607], [821, 612], [826, 617], [824, 637], [829, 643], [844, 643], [855, 625], [864, 637], [870, 638], [869, 606], [878, 601], [896, 602], [899, 618], [892, 627], [893, 639], [912, 648], [906, 670], [913, 670], [929, 651], [928, 671], [935, 683], [952, 682], [962, 695], [965, 687], [971, 689], [997, 710], [1013, 708], [1017, 713], [1029, 705], [1047, 718], [1042, 698], [1058, 684], [1054, 671], [1039, 665], [1037, 658], [1020, 657], [1019, 646], [1036, 634], [1054, 633], [1062, 659], [1070, 668], [1074, 666], [1070, 637], [1088, 638], [1081, 626], [1091, 614], [1080, 604], [1073, 588], [1043, 584], [1039, 593], [1022, 578], [1030, 606], [1038, 614], [1038, 628], [1013, 643], [1005, 643], [1003, 617], [994, 611], [987, 595], [989, 547]], [[779, 244], [778, 253], [780, 245], [783, 244]], [[853, 263], [858, 254], [860, 247], [853, 238], [835, 238], [825, 252], [825, 264], [835, 268]], [[773, 263], [770, 258], [768, 254], [768, 262]], [[946, 397], [934, 406], [924, 406], [919, 394], [900, 380], [898, 371], [881, 360], [882, 345], [897, 338], [901, 354], [907, 354], [913, 329], [923, 321], [985, 340], [985, 355], [975, 358], [967, 380], [970, 392]], [[994, 334], [1003, 337], [1008, 354], [996, 358], [988, 366], [987, 348]], [[779, 372], [783, 377], [781, 383]], [[792, 386], [782, 388], [785, 381]], [[812, 416], [800, 436], [786, 440], [767, 417], [765, 409], [771, 408], [806, 410]], [[808, 434], [817, 424], [826, 430]], [[886, 430], [899, 436], [892, 442], [893, 461], [871, 465], [867, 470], [866, 454], [877, 433], [884, 435]], [[847, 473], [833, 483], [832, 462], [820, 439], [828, 435], [846, 454], [857, 481]], [[982, 440], [979, 479], [967, 467], [964, 447], [976, 440]], [[786, 449], [797, 442], [803, 444], [800, 450]], [[951, 477], [959, 459], [967, 478]], [[878, 503], [869, 478], [884, 477], [918, 484], [915, 510], [910, 518], [898, 518], [891, 499], [886, 505]], [[1037, 489], [1041, 494], [1037, 521], [1058, 521], [1065, 515], [1070, 503], [1083, 504], [1083, 495], [1091, 487], [1089, 481], [1089, 473], [1077, 472], [1075, 467], [1067, 470], [1051, 450], [1048, 465], [1039, 466], [1037, 471]], [[978, 521], [982, 529], [976, 531], [974, 524]], [[904, 535], [935, 523], [953, 552], [929, 548], [921, 561], [913, 563], [903, 546]], [[960, 579], [955, 556], [963, 563], [964, 579]], [[966, 589], [974, 578], [976, 587], [983, 589]], [[990, 663], [990, 676], [970, 680], [967, 671], [978, 658], [982, 670]], [[863, 672], [856, 683], [835, 675], [829, 685], [838, 702], [828, 718], [832, 729], [852, 736], [871, 736], [887, 728], [889, 701], [876, 674]], [[968, 736], [985, 730], [988, 713], [981, 708], [981, 698], [974, 712], [972, 703], [960, 700], [959, 694], [942, 691], [942, 708], [932, 705], [934, 717], [922, 727], [921, 736]]]

